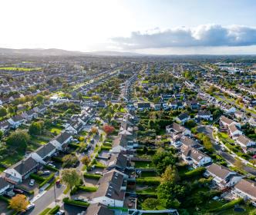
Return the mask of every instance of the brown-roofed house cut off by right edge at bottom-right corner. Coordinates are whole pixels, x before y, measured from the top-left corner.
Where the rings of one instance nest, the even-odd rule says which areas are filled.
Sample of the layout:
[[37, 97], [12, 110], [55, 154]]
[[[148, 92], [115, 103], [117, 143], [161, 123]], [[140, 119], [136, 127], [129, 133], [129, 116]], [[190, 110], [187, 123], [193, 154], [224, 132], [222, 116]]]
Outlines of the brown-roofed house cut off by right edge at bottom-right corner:
[[231, 191], [235, 197], [249, 200], [256, 207], [256, 183], [252, 180], [240, 180]]

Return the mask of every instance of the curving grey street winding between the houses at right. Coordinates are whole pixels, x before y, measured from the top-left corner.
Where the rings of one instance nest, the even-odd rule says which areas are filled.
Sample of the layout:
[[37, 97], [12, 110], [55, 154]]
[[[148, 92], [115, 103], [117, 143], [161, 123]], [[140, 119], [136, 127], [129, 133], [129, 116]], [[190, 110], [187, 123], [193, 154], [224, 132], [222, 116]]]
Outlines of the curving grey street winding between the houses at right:
[[[200, 127], [198, 127], [197, 131], [201, 132], [201, 133], [204, 133], [208, 137], [210, 137], [211, 142], [213, 143], [213, 146], [214, 146], [214, 150], [217, 151], [217, 154], [221, 155], [221, 157], [223, 157], [224, 160], [227, 161], [227, 163], [234, 165], [234, 162], [235, 162], [234, 157], [231, 156], [231, 154], [228, 154], [227, 152], [222, 151], [220, 145], [215, 144], [216, 141], [213, 137], [213, 128], [212, 127], [200, 126]], [[244, 166], [243, 170], [247, 171], [250, 174], [256, 175], [256, 170], [253, 167]]]

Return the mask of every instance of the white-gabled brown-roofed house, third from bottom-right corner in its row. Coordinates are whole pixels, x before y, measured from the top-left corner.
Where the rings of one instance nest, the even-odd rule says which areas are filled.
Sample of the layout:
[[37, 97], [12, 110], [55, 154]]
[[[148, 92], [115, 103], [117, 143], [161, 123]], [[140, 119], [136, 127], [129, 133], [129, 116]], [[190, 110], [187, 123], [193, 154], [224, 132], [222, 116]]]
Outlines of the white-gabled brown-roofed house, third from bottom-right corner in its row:
[[194, 168], [211, 164], [211, 157], [208, 157], [207, 154], [204, 154], [193, 147], [182, 145], [180, 147], [180, 151], [182, 159], [187, 162], [187, 164], [192, 165]]

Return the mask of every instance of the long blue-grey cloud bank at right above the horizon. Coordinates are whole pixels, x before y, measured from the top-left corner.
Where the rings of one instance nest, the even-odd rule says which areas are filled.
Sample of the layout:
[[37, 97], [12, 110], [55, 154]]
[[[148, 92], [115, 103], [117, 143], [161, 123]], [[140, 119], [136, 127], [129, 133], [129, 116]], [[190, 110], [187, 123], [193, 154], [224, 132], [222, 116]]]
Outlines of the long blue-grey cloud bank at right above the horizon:
[[170, 28], [160, 31], [133, 31], [130, 37], [111, 40], [125, 49], [182, 48], [256, 45], [256, 28], [242, 25], [198, 25], [195, 28]]

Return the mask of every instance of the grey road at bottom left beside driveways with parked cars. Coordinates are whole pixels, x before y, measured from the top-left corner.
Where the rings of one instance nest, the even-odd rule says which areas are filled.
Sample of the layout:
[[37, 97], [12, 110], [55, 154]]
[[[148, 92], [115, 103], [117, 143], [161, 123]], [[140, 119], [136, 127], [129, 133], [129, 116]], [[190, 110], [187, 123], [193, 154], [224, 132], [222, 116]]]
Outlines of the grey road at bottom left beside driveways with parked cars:
[[[56, 187], [56, 199], [57, 202], [58, 198], [62, 195], [63, 191], [65, 190], [66, 186], [62, 185], [62, 187]], [[42, 212], [42, 210], [45, 210], [45, 208], [49, 207], [51, 203], [55, 202], [55, 197], [54, 197], [54, 187], [50, 188], [47, 190], [45, 194], [42, 195], [38, 200], [35, 201], [35, 208], [34, 210], [31, 210], [27, 212], [26, 214], [31, 214], [31, 215], [38, 215], [39, 213]]]

